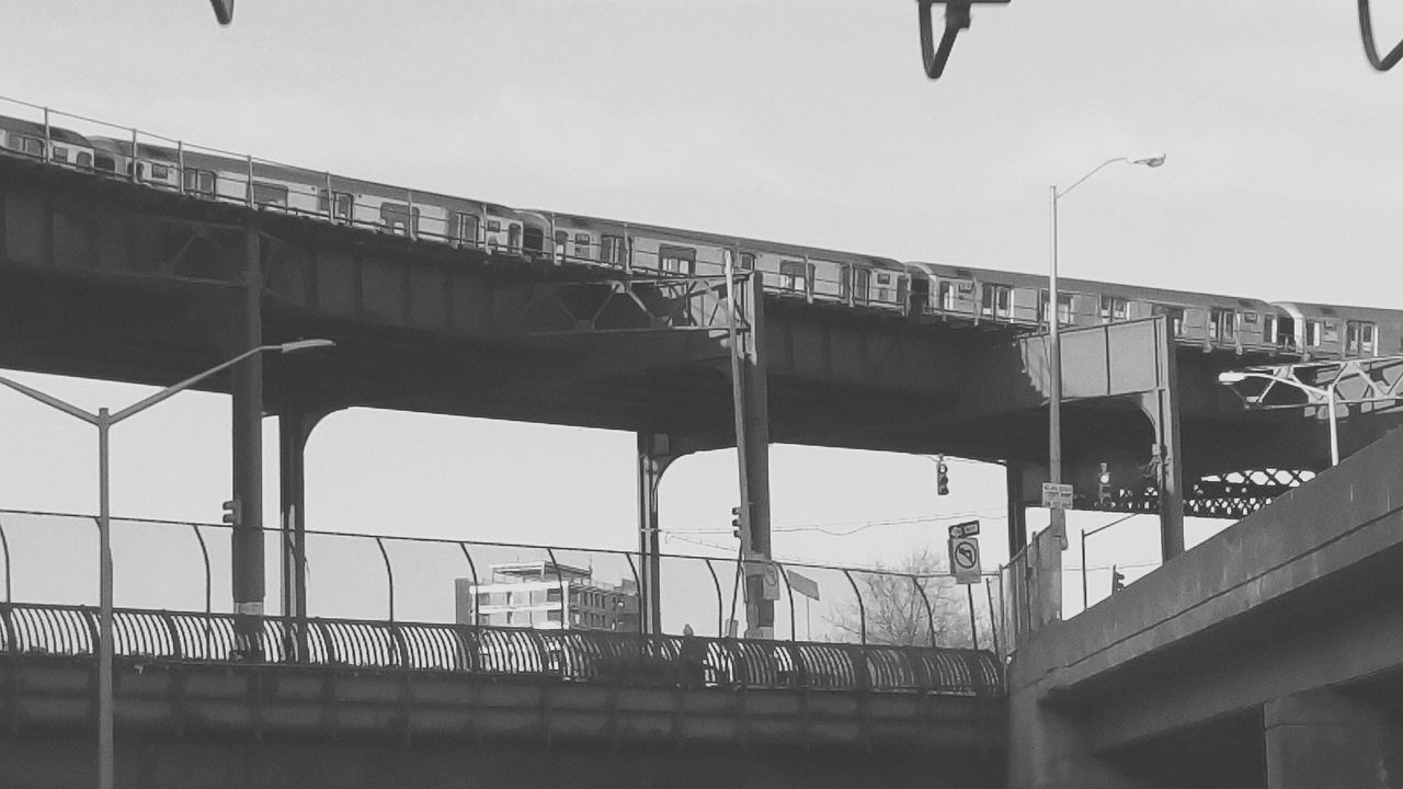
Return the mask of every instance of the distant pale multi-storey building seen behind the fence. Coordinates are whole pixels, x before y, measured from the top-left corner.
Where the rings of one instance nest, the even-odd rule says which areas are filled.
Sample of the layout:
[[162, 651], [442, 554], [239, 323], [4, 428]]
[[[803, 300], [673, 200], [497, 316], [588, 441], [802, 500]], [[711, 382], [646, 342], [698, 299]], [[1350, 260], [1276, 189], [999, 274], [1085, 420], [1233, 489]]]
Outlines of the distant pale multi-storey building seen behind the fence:
[[554, 562], [492, 564], [485, 583], [453, 580], [457, 621], [543, 630], [638, 632], [638, 584], [605, 584]]

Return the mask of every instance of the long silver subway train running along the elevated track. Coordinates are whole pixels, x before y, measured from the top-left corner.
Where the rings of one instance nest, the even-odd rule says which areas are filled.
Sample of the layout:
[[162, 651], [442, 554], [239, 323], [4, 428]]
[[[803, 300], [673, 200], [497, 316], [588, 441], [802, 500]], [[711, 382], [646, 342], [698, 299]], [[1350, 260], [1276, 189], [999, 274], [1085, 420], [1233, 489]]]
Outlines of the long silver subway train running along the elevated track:
[[[765, 272], [767, 292], [814, 305], [961, 324], [1038, 330], [1047, 281], [1034, 274], [939, 263], [901, 263], [613, 219], [564, 215], [400, 190], [297, 167], [202, 150], [83, 136], [0, 117], [0, 154], [178, 191], [243, 202], [492, 256], [641, 275], [714, 275], [724, 254]], [[1403, 312], [1305, 302], [1268, 303], [1212, 293], [1063, 279], [1063, 326], [1096, 326], [1163, 314], [1181, 344], [1205, 351], [1284, 359], [1338, 359], [1403, 352]]]

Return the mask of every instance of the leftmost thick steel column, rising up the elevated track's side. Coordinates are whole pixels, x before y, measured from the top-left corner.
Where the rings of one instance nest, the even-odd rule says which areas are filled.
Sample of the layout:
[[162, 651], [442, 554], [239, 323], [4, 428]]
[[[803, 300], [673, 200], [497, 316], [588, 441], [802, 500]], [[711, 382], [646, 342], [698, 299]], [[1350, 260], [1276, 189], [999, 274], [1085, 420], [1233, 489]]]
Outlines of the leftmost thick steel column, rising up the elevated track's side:
[[[262, 250], [261, 234], [250, 226], [244, 236], [244, 288], [240, 292], [237, 329], [231, 351], [262, 345]], [[254, 354], [230, 371], [233, 396], [233, 472], [239, 518], [233, 526], [234, 629], [239, 653], [247, 660], [261, 657], [260, 633], [264, 615], [262, 536], [262, 358]]]

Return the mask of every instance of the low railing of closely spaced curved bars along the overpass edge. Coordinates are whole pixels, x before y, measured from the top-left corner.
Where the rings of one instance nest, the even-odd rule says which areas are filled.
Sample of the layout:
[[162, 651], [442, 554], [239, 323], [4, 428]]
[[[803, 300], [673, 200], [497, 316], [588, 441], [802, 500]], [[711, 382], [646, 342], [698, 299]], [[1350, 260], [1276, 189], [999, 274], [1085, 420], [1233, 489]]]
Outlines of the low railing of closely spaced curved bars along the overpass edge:
[[[91, 606], [0, 604], [0, 654], [90, 656], [98, 633]], [[535, 630], [473, 625], [269, 616], [262, 663], [557, 677], [643, 685], [808, 688], [995, 696], [1003, 694], [989, 651]], [[122, 658], [244, 661], [234, 616], [118, 609], [114, 647]]]

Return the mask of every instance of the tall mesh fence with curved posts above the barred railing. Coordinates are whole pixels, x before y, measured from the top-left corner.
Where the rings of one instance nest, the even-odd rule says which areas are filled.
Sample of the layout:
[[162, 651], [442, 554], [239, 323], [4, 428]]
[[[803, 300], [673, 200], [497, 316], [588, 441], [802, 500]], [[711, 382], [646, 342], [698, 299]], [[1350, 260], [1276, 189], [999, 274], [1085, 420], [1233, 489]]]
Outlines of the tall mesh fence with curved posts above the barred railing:
[[[725, 637], [739, 633], [745, 611], [745, 569], [735, 553], [659, 556], [654, 611], [640, 592], [648, 562], [633, 552], [328, 531], [296, 536], [276, 528], [262, 535], [272, 618], [542, 632], [690, 629]], [[118, 606], [231, 611], [227, 525], [115, 518], [112, 550]], [[299, 555], [306, 564], [300, 590], [296, 574], [282, 573], [283, 562], [295, 564]], [[791, 562], [774, 567], [776, 639], [999, 647], [1002, 591], [992, 583], [961, 588], [944, 574]], [[95, 605], [95, 519], [0, 510], [0, 602]]]

